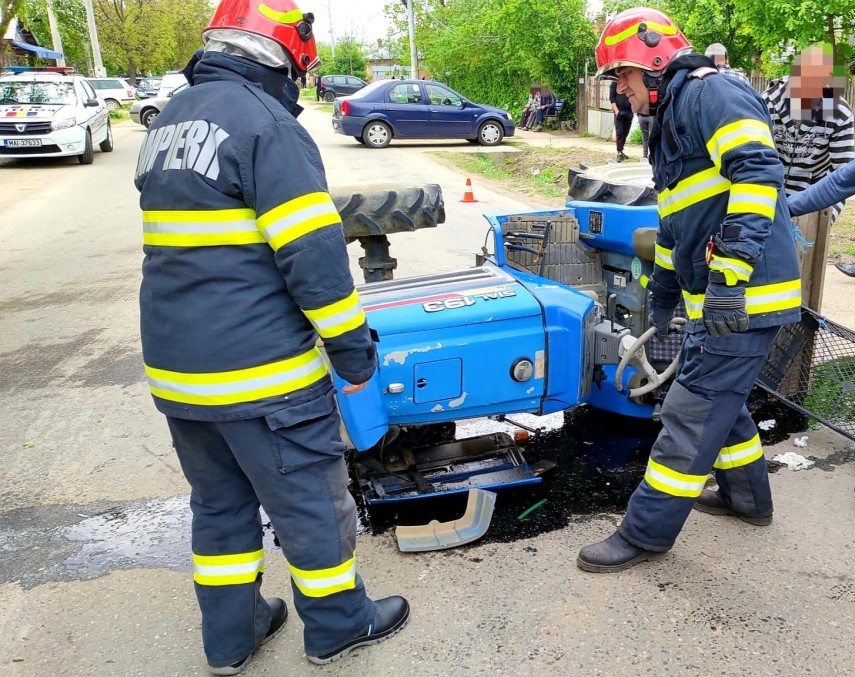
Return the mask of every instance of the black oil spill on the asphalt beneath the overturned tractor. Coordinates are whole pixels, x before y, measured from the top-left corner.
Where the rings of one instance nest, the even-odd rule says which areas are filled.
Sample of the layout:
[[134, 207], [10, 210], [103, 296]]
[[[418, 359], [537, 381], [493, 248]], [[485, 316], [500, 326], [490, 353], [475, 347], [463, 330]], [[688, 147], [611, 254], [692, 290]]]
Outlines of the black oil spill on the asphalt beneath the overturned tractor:
[[[774, 444], [807, 428], [807, 420], [762, 391], [752, 393], [749, 410], [756, 422], [774, 421], [760, 431], [763, 444]], [[590, 407], [567, 412], [564, 425], [534, 435], [523, 447], [530, 465], [554, 461], [557, 467], [540, 485], [499, 491], [490, 529], [481, 543], [508, 543], [555, 531], [574, 522], [623, 513], [644, 476], [650, 448], [661, 425], [605, 413]], [[774, 468], [770, 468], [774, 470]], [[354, 478], [354, 486], [358, 486]], [[358, 492], [357, 492], [358, 493]], [[395, 506], [369, 507], [357, 495], [359, 530], [381, 534], [401, 525], [459, 519], [466, 496], [428, 497]], [[546, 501], [524, 519], [527, 509]], [[617, 515], [614, 515], [615, 522]]]

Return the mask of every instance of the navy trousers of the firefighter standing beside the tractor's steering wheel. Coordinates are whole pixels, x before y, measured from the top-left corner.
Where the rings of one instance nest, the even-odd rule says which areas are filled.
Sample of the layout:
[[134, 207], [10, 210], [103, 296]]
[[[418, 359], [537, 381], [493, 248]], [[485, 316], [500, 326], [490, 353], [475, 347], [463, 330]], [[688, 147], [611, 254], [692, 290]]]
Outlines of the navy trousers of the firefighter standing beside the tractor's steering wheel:
[[745, 402], [778, 327], [713, 337], [695, 320], [684, 333], [680, 371], [662, 404], [662, 431], [618, 528], [645, 550], [671, 548], [713, 468], [736, 511], [772, 514], [766, 459]]

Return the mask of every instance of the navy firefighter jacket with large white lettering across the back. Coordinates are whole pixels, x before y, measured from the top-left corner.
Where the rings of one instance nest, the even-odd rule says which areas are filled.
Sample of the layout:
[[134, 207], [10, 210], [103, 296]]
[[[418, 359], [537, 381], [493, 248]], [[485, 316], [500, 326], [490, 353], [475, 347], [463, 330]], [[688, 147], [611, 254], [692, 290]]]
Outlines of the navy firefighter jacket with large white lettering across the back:
[[[140, 151], [143, 358], [157, 408], [225, 421], [304, 405], [376, 354], [297, 88], [239, 57], [202, 56]], [[316, 414], [317, 415], [317, 414]]]

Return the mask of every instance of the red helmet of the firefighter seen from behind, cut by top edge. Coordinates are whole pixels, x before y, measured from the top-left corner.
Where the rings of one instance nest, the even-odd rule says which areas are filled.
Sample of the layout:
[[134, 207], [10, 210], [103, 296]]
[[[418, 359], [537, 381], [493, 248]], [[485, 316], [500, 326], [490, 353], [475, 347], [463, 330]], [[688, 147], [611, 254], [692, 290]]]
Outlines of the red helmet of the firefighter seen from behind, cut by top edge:
[[318, 63], [312, 33], [313, 14], [300, 11], [292, 0], [222, 0], [211, 23], [202, 31], [226, 29], [255, 33], [281, 45], [301, 73]]

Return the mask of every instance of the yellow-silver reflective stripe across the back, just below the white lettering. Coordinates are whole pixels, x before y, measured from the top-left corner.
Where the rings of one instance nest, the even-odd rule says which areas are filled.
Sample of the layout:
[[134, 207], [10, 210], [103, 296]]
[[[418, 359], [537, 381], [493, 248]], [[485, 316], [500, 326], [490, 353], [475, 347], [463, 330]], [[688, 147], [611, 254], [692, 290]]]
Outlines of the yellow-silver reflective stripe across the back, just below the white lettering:
[[155, 247], [263, 244], [252, 209], [143, 212], [143, 243]]

